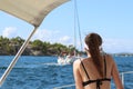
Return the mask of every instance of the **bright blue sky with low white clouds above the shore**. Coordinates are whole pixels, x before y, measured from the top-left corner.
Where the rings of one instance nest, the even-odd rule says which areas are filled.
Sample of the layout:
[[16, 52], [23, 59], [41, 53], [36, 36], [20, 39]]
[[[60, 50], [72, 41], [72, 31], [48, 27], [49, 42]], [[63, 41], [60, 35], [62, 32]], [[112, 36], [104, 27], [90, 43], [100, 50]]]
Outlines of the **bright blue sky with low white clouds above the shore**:
[[[82, 44], [90, 32], [103, 39], [106, 52], [133, 52], [133, 0], [76, 0]], [[78, 21], [75, 21], [78, 22]], [[78, 28], [78, 27], [76, 27]], [[33, 27], [21, 19], [0, 11], [0, 36], [27, 39]], [[50, 12], [31, 40], [51, 43], [74, 43], [74, 0]], [[76, 29], [76, 47], [80, 49]]]

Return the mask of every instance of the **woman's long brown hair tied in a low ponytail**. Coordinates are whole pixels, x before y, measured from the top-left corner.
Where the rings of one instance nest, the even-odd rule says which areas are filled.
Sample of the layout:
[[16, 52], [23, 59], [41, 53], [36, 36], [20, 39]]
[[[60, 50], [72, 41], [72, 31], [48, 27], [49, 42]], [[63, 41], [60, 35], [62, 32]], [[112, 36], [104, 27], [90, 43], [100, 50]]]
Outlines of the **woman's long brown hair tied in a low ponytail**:
[[85, 43], [89, 48], [89, 52], [99, 73], [101, 75], [101, 77], [103, 77], [103, 65], [100, 55], [100, 46], [102, 44], [102, 38], [98, 33], [89, 33], [85, 37]]

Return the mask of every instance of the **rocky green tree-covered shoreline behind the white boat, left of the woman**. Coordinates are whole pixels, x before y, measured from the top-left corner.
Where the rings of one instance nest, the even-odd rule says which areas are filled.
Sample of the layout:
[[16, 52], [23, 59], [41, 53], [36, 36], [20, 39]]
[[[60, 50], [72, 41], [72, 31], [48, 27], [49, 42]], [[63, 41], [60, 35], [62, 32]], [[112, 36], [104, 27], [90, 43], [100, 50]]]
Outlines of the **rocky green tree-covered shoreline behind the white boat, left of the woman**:
[[[23, 42], [24, 39], [20, 37], [9, 39], [0, 36], [0, 56], [14, 56]], [[61, 52], [72, 52], [74, 49], [72, 44], [50, 43], [37, 39], [29, 42], [22, 56], [58, 56]]]

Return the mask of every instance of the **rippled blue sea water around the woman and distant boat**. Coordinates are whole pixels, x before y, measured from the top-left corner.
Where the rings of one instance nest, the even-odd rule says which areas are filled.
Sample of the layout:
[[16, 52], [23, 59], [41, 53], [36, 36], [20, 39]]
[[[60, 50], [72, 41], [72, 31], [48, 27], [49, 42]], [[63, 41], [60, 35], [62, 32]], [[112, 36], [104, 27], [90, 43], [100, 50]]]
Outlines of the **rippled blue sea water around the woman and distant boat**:
[[[0, 56], [0, 77], [13, 56]], [[57, 57], [22, 56], [0, 89], [53, 89], [74, 83], [72, 65], [60, 66]], [[133, 71], [133, 57], [114, 57], [119, 71]], [[133, 75], [124, 75], [124, 88], [133, 88]], [[115, 86], [112, 81], [112, 88]], [[62, 89], [75, 89], [73, 87]]]

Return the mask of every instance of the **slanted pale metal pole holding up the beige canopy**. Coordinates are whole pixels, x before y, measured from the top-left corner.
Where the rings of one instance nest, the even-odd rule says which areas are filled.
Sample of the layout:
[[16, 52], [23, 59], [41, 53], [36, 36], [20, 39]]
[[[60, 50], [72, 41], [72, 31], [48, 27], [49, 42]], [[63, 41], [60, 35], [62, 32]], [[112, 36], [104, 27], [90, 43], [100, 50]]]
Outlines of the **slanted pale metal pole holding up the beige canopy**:
[[34, 27], [34, 30], [31, 32], [31, 34], [29, 36], [29, 38], [21, 46], [20, 50], [18, 51], [18, 53], [16, 55], [16, 57], [13, 58], [13, 60], [11, 61], [11, 63], [9, 65], [9, 67], [4, 71], [4, 73], [2, 75], [2, 77], [0, 78], [0, 86], [2, 86], [3, 81], [6, 80], [6, 78], [8, 77], [8, 75], [10, 73], [10, 71], [12, 70], [12, 68], [14, 67], [14, 65], [17, 63], [19, 57], [24, 51], [25, 47], [28, 46], [31, 37], [34, 34], [34, 32], [37, 31], [37, 29], [38, 29], [38, 27]]

